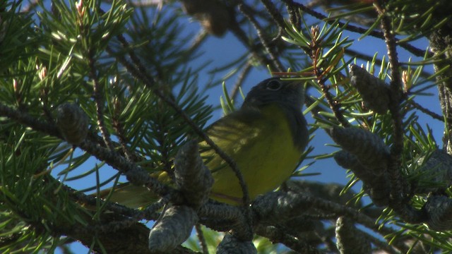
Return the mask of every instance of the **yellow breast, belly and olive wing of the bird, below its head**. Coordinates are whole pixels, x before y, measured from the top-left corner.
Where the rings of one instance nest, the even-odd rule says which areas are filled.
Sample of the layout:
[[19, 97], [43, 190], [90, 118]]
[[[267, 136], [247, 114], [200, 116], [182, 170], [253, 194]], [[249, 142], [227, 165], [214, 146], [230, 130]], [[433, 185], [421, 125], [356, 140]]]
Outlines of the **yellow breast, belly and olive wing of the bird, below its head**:
[[[278, 104], [259, 110], [258, 116], [228, 115], [208, 131], [210, 138], [234, 159], [242, 172], [249, 196], [272, 191], [294, 171], [302, 151], [295, 147], [287, 118]], [[213, 151], [203, 156], [213, 155]], [[218, 156], [208, 160], [215, 183], [211, 197], [231, 204], [242, 201], [237, 176]]]

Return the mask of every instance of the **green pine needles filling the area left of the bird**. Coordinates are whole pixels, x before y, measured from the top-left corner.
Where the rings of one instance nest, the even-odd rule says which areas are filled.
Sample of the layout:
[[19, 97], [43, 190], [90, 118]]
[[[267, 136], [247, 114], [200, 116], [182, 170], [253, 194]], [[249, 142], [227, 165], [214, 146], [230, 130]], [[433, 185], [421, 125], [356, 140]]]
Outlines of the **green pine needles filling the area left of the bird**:
[[[174, 100], [196, 125], [204, 126], [211, 107], [196, 89], [194, 73], [199, 69], [189, 68], [199, 54], [188, 44], [191, 35], [179, 34], [183, 28], [174, 13], [155, 10], [150, 25], [145, 20], [149, 13], [138, 11], [131, 18], [133, 11], [124, 1], [102, 6], [107, 7], [105, 11], [100, 1], [83, 1], [81, 5], [53, 1], [51, 10], [42, 5], [33, 18], [19, 13], [19, 6], [15, 2], [0, 6], [4, 10], [0, 25], [5, 28], [1, 43], [7, 45], [0, 49], [4, 70], [0, 73], [1, 102], [48, 124], [55, 121], [54, 109], [59, 104], [76, 102], [90, 119], [93, 137], [98, 131], [96, 99], [103, 98], [102, 118], [114, 146], [119, 149], [119, 143], [125, 144], [122, 152], [127, 150], [145, 169], [172, 170], [172, 159], [193, 135], [192, 128], [116, 59], [139, 48], [140, 59], [150, 66], [149, 73], [159, 78], [157, 89]], [[129, 49], [120, 45], [118, 37], [127, 31]], [[69, 198], [62, 183], [88, 183], [93, 187], [84, 191], [93, 191], [112, 185], [119, 174], [93, 181], [96, 174], [112, 169], [105, 162], [88, 163], [93, 162], [93, 155], [73, 149], [57, 137], [32, 131], [4, 116], [0, 120], [0, 231], [11, 238], [1, 251], [47, 248], [53, 252], [64, 244], [64, 238], [52, 232], [60, 226], [86, 225], [89, 218], [80, 214], [80, 205]]]

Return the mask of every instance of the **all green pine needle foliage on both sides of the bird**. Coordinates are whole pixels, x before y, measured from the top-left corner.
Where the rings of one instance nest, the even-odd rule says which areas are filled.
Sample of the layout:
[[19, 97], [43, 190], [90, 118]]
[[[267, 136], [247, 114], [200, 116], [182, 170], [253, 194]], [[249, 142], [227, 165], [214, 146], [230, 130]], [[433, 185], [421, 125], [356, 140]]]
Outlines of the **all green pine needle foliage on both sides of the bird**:
[[[448, 74], [450, 65], [429, 50], [417, 49], [418, 56], [423, 56], [399, 61], [400, 66], [394, 70], [391, 57], [371, 49], [363, 54], [353, 51], [357, 40], [369, 36], [378, 37], [384, 44], [379, 29], [387, 18], [396, 36], [396, 49], [405, 47], [412, 52], [406, 43], [429, 37], [450, 23], [448, 8], [441, 9], [444, 1], [345, 3], [328, 8], [330, 15], [323, 18], [311, 9], [286, 8], [286, 2], [291, 1], [278, 2], [272, 5], [274, 8], [263, 6], [268, 2], [242, 3], [256, 6], [251, 15], [258, 25], [239, 13], [237, 6], [232, 6], [234, 22], [229, 29], [244, 44], [245, 52], [236, 59], [212, 64], [209, 56], [199, 50], [210, 35], [192, 31], [184, 23], [189, 17], [182, 13], [177, 2], [165, 1], [160, 8], [138, 7], [130, 1], [101, 4], [94, 0], [52, 1], [49, 7], [47, 2], [39, 1], [31, 7], [32, 11], [22, 11], [23, 1], [1, 1], [0, 106], [2, 112], [3, 107], [8, 107], [16, 116], [0, 116], [0, 250], [32, 253], [45, 249], [52, 253], [71, 241], [71, 236], [63, 236], [63, 229], [76, 229], [92, 222], [98, 226], [107, 217], [86, 209], [83, 200], [74, 196], [101, 191], [124, 180], [109, 162], [61, 139], [55, 127], [55, 110], [59, 105], [73, 102], [83, 109], [90, 119], [88, 140], [96, 148], [112, 148], [114, 155], [154, 175], [162, 171], [171, 175], [179, 147], [187, 139], [198, 137], [194, 126], [206, 126], [213, 111], [206, 103], [206, 91], [198, 89], [201, 87], [199, 73], [212, 75], [210, 84], [202, 84], [209, 88], [235, 75], [242, 75], [239, 79], [243, 80], [251, 69], [273, 68], [270, 63], [275, 61], [297, 71], [296, 78], [306, 82], [308, 107], [304, 113], [314, 119], [309, 130], [311, 140], [315, 140], [312, 137], [321, 129], [348, 126], [375, 133], [388, 149], [395, 149], [400, 137], [394, 130], [400, 127], [400, 175], [410, 186], [439, 189], [442, 195], [451, 197], [448, 186], [434, 181], [436, 175], [423, 170], [439, 143], [434, 140], [431, 127], [420, 123], [424, 113], [430, 112], [417, 104], [420, 97], [430, 96], [430, 88], [446, 80], [443, 75]], [[362, 28], [358, 28], [352, 25], [352, 18], [356, 17], [370, 22], [360, 23]], [[359, 38], [350, 31], [358, 32]], [[436, 55], [443, 53], [436, 52]], [[371, 75], [386, 82], [391, 92], [400, 92], [397, 104], [400, 126], [391, 114], [393, 109], [391, 113], [376, 114], [365, 106], [362, 95], [350, 84], [350, 63], [364, 66]], [[431, 73], [430, 67], [438, 67], [438, 63], [440, 67]], [[396, 88], [394, 71], [401, 78], [400, 87]], [[222, 76], [218, 78], [218, 74]], [[237, 107], [237, 99], [228, 94], [224, 83], [223, 92], [220, 103], [227, 114]], [[27, 121], [30, 118], [32, 121]], [[445, 132], [448, 135], [447, 124]], [[329, 152], [309, 157], [313, 149], [307, 149], [303, 159], [333, 157]], [[302, 169], [313, 163], [307, 162]], [[294, 176], [305, 176], [302, 169]], [[360, 181], [352, 171], [348, 172], [350, 180], [343, 188], [344, 195], [352, 192]], [[69, 188], [81, 183], [83, 189]], [[367, 201], [367, 191], [364, 186], [359, 193], [353, 193], [355, 205]], [[429, 193], [407, 196], [409, 205], [420, 210]], [[359, 211], [364, 214], [369, 207], [379, 209], [365, 203]], [[326, 228], [332, 218], [347, 214], [345, 209], [343, 214], [337, 211], [316, 214], [321, 210], [319, 207], [313, 210], [306, 221], [315, 219], [323, 233], [331, 231]], [[407, 223], [389, 207], [377, 213], [372, 218], [380, 228], [371, 230], [395, 246], [409, 238], [412, 246], [414, 243], [431, 246], [432, 253], [452, 250], [450, 231], [434, 231], [425, 224]], [[202, 231], [213, 253], [222, 234], [204, 226]], [[321, 237], [323, 242], [307, 239], [307, 245], [332, 250], [334, 236]], [[93, 240], [90, 248], [106, 251], [99, 236], [90, 240]], [[198, 240], [193, 236], [185, 246], [201, 250]], [[270, 241], [274, 239], [256, 236], [254, 245], [259, 253], [285, 250]], [[408, 251], [414, 251], [411, 248], [415, 247]]]

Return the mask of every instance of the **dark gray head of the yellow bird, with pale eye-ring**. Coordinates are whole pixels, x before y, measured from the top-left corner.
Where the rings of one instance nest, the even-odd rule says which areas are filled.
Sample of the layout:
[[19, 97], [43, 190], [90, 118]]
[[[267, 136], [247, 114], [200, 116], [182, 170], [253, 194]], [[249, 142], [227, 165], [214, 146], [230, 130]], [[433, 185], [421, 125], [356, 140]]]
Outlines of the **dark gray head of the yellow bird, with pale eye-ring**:
[[283, 107], [301, 109], [304, 103], [302, 82], [280, 78], [263, 80], [249, 91], [242, 107], [261, 107], [274, 102]]

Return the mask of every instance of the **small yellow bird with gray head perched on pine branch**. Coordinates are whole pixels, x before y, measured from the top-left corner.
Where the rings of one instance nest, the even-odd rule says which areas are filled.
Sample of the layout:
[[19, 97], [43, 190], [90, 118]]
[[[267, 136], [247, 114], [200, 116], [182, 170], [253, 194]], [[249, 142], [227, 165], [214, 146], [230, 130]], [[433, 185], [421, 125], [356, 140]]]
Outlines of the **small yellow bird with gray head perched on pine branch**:
[[[280, 186], [299, 164], [309, 139], [303, 102], [302, 83], [268, 78], [251, 89], [239, 110], [207, 128], [207, 135], [237, 163], [251, 200]], [[205, 164], [215, 180], [210, 198], [242, 204], [242, 188], [232, 169], [213, 149], [206, 150], [206, 142], [200, 147], [201, 157], [210, 158]], [[130, 184], [117, 187], [110, 198], [129, 207], [153, 200], [147, 188]]]

